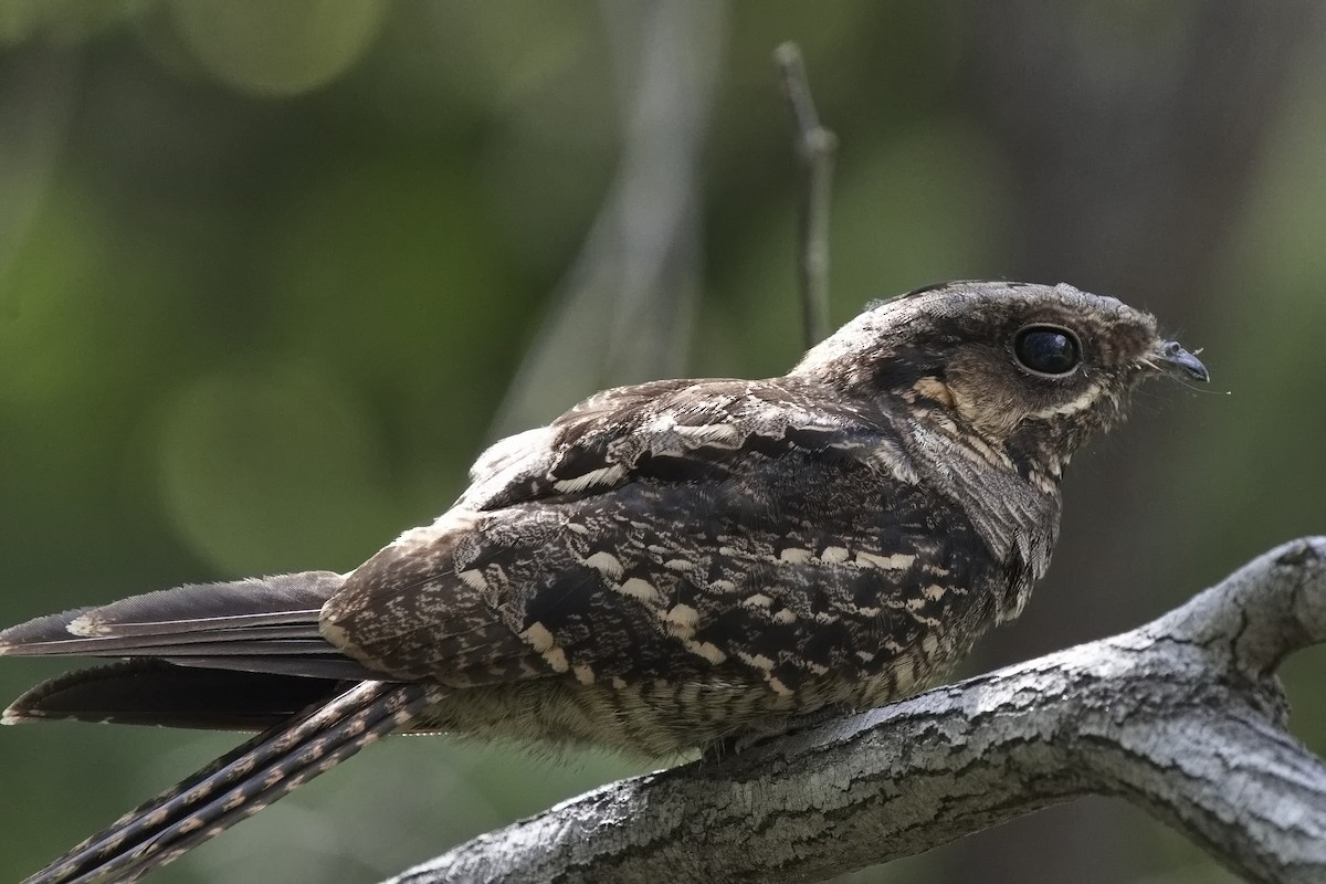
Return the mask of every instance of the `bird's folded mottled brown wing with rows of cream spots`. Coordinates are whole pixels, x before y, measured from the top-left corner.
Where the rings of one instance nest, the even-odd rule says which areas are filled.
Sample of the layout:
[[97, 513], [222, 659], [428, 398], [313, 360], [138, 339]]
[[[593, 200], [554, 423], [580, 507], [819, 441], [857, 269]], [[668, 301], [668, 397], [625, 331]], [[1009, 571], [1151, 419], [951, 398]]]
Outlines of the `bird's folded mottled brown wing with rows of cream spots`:
[[325, 634], [456, 687], [720, 667], [796, 689], [884, 665], [879, 636], [906, 647], [991, 565], [882, 415], [786, 379], [609, 391], [522, 444], [351, 574]]

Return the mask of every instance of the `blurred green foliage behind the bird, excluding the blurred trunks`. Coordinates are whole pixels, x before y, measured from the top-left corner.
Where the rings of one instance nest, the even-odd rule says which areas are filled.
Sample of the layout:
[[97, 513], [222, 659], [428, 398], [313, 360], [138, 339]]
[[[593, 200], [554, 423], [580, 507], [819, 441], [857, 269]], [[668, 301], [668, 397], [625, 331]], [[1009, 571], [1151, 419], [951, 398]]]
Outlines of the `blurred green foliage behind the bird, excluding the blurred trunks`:
[[[186, 580], [349, 570], [446, 509], [617, 170], [611, 5], [0, 0], [0, 622]], [[1167, 15], [1118, 5], [1105, 65], [1111, 40], [1146, 38]], [[794, 178], [769, 61], [789, 37], [843, 143], [835, 318], [1020, 270], [1017, 182], [961, 73], [983, 38], [971, 8], [728, 8], [688, 374], [777, 374], [800, 351]], [[1150, 451], [1124, 431], [1079, 457], [1077, 472], [1138, 493], [1127, 512], [1083, 505], [1067, 524], [1090, 555], [1059, 562], [1038, 594], [1058, 606], [1033, 603], [1013, 657], [1140, 622], [1323, 527], [1326, 82], [1321, 53], [1307, 56], [1238, 172], [1246, 193], [1200, 300], [1162, 317], [1207, 346], [1232, 395], [1150, 391], [1136, 417]], [[651, 329], [619, 334], [630, 346]], [[1146, 550], [1093, 543], [1118, 520]], [[1109, 622], [1074, 618], [1078, 575], [1120, 559], [1130, 582]], [[1296, 730], [1318, 749], [1323, 664], [1302, 655], [1288, 673]], [[0, 694], [57, 669], [7, 661]], [[0, 879], [233, 742], [4, 729]], [[634, 770], [394, 740], [154, 880], [375, 880]], [[1099, 812], [1126, 859], [1090, 859], [1089, 835], [1036, 850], [1109, 869], [1079, 881], [1219, 875], [1140, 814]], [[1036, 844], [1034, 831], [1006, 838]], [[961, 850], [979, 847], [859, 879], [968, 880]], [[1002, 879], [991, 865], [979, 880]]]

